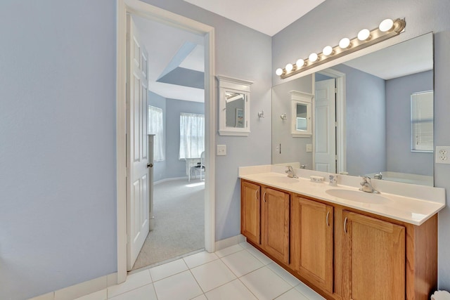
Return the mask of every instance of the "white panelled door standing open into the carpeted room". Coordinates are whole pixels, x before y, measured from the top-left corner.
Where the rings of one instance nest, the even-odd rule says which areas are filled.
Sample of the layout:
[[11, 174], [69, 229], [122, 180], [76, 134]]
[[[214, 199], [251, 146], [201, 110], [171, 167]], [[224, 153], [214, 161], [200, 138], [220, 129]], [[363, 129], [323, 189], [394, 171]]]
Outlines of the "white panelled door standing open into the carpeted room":
[[149, 230], [147, 155], [148, 56], [127, 16], [127, 270], [133, 268]]

